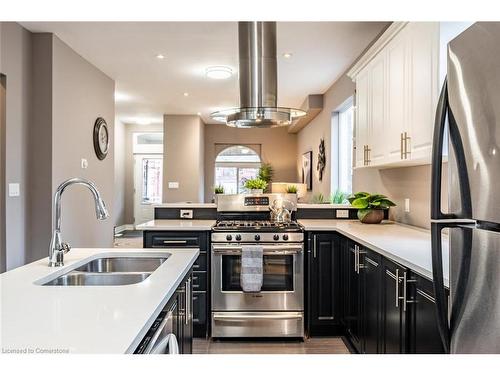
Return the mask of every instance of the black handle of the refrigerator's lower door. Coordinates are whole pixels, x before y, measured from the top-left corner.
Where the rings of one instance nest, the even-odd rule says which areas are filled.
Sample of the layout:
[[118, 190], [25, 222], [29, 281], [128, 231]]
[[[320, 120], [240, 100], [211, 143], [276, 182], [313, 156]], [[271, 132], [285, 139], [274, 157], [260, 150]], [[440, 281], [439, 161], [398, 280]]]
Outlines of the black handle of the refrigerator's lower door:
[[448, 309], [446, 290], [443, 277], [443, 249], [441, 243], [441, 230], [446, 224], [431, 223], [432, 242], [432, 281], [434, 298], [436, 299], [436, 313], [439, 334], [446, 353], [450, 352], [450, 325], [448, 322]]

